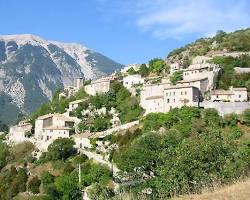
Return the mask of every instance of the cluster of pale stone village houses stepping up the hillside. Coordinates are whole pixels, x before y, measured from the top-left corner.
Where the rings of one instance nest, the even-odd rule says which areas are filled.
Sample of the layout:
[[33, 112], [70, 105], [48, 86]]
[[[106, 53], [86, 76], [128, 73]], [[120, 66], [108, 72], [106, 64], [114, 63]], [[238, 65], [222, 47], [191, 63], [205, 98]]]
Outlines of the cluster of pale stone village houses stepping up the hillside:
[[[230, 54], [230, 56], [240, 55], [241, 53]], [[173, 108], [181, 108], [183, 106], [215, 108], [222, 116], [229, 113], [240, 114], [250, 108], [246, 88], [215, 89], [215, 81], [220, 72], [220, 66], [209, 62], [211, 59], [212, 57], [208, 56], [197, 56], [193, 58], [192, 63], [185, 69], [178, 63], [172, 63], [169, 65], [169, 74], [166, 76], [142, 77], [137, 73], [139, 70], [138, 65], [132, 65], [129, 66], [127, 71], [123, 69], [121, 72], [114, 73], [111, 76], [93, 80], [87, 85], [84, 85], [84, 78], [76, 78], [74, 86], [64, 88], [63, 92], [59, 94], [59, 98], [70, 98], [71, 95], [83, 88], [90, 96], [107, 93], [110, 91], [111, 82], [118, 80], [122, 82], [131, 95], [139, 96], [140, 106], [145, 110], [144, 116], [149, 113], [166, 113]], [[132, 69], [134, 73], [129, 74], [128, 71]], [[182, 73], [181, 80], [175, 83], [171, 82], [170, 77], [179, 72]], [[155, 80], [157, 80], [157, 83], [154, 83]], [[35, 127], [32, 127], [30, 123], [25, 121], [19, 122], [18, 125], [10, 128], [9, 143], [15, 144], [30, 141], [40, 151], [46, 151], [47, 147], [56, 139], [72, 136], [75, 142], [79, 144], [79, 148], [90, 148], [89, 138], [104, 137], [118, 130], [125, 130], [131, 127], [131, 122], [127, 123], [127, 125], [121, 124], [118, 117], [119, 113], [116, 113], [114, 108], [107, 111], [103, 107], [96, 110], [96, 112], [99, 115], [106, 115], [107, 112], [112, 115], [110, 120], [112, 124], [111, 129], [104, 130], [104, 133], [91, 133], [89, 130], [83, 133], [80, 132], [77, 130], [77, 126], [81, 119], [71, 116], [71, 113], [85, 100], [78, 99], [69, 102], [65, 113], [51, 113], [39, 116], [35, 121]], [[81, 110], [81, 112], [91, 114], [93, 110], [88, 108]], [[33, 135], [31, 135], [32, 128], [34, 128]], [[79, 143], [80, 141], [82, 143]]]

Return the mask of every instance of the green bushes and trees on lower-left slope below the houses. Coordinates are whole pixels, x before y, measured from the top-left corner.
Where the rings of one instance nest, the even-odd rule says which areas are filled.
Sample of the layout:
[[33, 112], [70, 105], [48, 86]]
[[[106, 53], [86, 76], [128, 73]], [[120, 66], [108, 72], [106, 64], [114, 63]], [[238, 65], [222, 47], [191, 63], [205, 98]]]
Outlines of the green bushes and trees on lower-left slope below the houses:
[[[96, 164], [85, 155], [78, 155], [70, 139], [58, 139], [52, 143], [48, 152], [43, 153], [39, 160], [31, 155], [29, 143], [8, 147], [0, 140], [0, 199], [9, 200], [20, 192], [32, 194], [43, 193], [37, 199], [60, 200], [81, 199], [80, 188], [94, 184], [90, 195], [96, 196], [95, 189], [109, 192], [111, 171], [103, 165]], [[20, 150], [21, 152], [17, 152]], [[16, 157], [18, 156], [18, 157]], [[47, 171], [51, 164], [51, 172]], [[78, 165], [81, 166], [81, 183], [79, 185]], [[29, 165], [29, 168], [27, 167]], [[36, 168], [40, 168], [39, 173]], [[31, 171], [29, 176], [28, 171]], [[57, 172], [57, 173], [56, 173]], [[57, 175], [55, 175], [57, 174]], [[103, 193], [102, 193], [103, 194]], [[19, 198], [18, 198], [19, 199]], [[22, 198], [20, 198], [22, 199]]]

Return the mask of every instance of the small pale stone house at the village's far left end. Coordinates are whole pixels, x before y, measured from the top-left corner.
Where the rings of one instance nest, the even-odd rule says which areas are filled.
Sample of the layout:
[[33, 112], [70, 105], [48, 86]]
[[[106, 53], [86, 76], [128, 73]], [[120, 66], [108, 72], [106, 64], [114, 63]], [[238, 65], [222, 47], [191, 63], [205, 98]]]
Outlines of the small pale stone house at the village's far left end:
[[21, 143], [29, 140], [28, 133], [32, 130], [31, 123], [21, 121], [16, 126], [11, 126], [8, 134], [8, 140], [10, 143]]

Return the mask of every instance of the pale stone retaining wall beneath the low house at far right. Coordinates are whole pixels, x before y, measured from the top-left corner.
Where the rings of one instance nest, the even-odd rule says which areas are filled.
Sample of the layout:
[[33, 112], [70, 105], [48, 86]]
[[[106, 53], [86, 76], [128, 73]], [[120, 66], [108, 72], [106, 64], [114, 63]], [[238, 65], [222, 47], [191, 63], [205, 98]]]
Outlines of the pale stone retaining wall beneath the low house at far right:
[[236, 113], [241, 114], [246, 109], [250, 109], [250, 102], [210, 102], [205, 101], [200, 104], [201, 107], [215, 108], [221, 116]]

